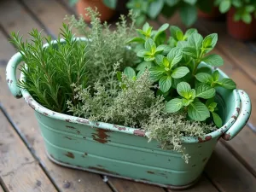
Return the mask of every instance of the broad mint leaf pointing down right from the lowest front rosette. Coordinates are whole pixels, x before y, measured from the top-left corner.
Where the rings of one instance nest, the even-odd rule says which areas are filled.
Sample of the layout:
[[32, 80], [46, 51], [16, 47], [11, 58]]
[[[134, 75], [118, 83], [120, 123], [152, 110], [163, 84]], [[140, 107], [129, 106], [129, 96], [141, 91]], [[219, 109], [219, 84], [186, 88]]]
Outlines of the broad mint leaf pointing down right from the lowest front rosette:
[[204, 121], [210, 117], [210, 112], [205, 104], [202, 102], [192, 102], [188, 108], [189, 118], [196, 121]]

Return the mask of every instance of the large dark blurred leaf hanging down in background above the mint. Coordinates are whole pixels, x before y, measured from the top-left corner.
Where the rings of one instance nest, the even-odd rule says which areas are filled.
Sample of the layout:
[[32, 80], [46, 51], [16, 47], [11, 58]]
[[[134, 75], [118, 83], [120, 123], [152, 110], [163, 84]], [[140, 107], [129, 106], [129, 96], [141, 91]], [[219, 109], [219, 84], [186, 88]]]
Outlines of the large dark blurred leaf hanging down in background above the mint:
[[197, 9], [193, 5], [183, 5], [179, 8], [179, 15], [185, 26], [191, 26], [197, 19]]

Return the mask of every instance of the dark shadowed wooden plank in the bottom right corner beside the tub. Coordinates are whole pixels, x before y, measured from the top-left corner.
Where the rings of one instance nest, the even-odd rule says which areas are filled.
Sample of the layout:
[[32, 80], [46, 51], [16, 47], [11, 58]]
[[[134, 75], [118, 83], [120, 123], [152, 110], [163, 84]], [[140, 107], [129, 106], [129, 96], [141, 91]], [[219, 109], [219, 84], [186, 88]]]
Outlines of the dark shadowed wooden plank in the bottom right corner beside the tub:
[[206, 172], [221, 191], [255, 192], [256, 178], [221, 143], [217, 144]]

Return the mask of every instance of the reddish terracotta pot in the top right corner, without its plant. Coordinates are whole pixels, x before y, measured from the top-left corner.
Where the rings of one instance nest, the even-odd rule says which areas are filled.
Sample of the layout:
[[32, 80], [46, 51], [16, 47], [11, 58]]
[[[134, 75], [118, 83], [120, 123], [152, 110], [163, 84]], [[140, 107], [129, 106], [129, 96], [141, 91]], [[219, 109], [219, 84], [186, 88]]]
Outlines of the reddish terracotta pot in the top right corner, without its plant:
[[253, 15], [253, 20], [250, 24], [243, 21], [233, 20], [236, 9], [232, 8], [227, 14], [227, 28], [230, 36], [240, 40], [253, 40], [256, 39], [256, 20]]

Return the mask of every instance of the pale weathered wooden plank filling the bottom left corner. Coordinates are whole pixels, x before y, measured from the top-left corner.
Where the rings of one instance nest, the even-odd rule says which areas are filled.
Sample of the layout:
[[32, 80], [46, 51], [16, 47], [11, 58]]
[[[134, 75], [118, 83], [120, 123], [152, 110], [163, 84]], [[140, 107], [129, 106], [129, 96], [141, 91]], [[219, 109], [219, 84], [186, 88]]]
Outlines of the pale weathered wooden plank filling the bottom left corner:
[[0, 177], [6, 188], [9, 191], [56, 191], [1, 110], [0, 122]]

